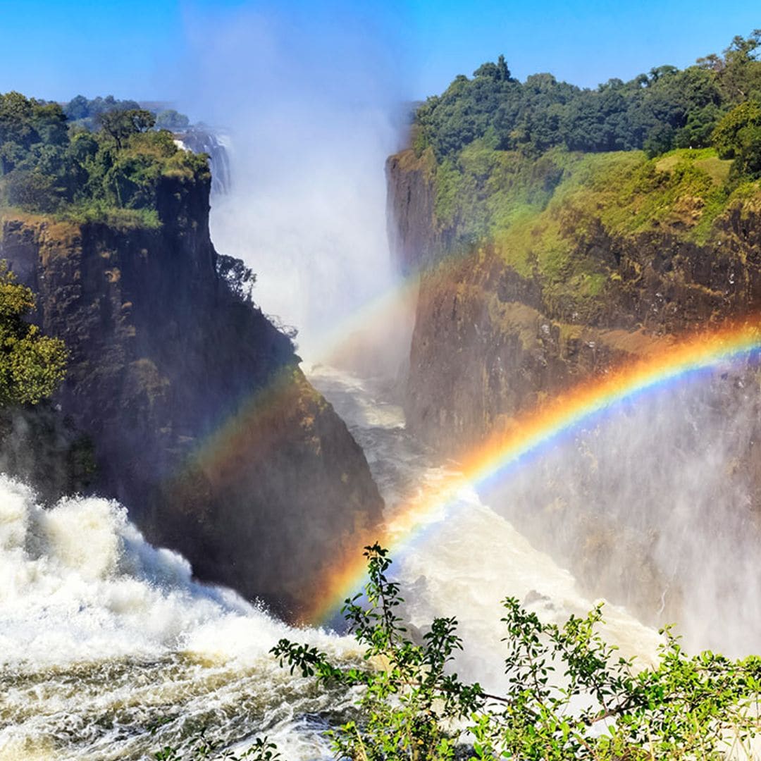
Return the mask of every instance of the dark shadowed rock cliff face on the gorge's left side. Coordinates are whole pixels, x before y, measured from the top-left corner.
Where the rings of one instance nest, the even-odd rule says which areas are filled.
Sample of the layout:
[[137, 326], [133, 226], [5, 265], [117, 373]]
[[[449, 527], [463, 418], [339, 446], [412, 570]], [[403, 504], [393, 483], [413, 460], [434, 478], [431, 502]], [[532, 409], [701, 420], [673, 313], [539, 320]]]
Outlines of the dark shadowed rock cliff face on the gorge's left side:
[[0, 257], [68, 347], [56, 402], [91, 435], [94, 489], [200, 578], [298, 616], [380, 496], [289, 339], [218, 276], [208, 177], [164, 177], [158, 215], [158, 228], [6, 215]]

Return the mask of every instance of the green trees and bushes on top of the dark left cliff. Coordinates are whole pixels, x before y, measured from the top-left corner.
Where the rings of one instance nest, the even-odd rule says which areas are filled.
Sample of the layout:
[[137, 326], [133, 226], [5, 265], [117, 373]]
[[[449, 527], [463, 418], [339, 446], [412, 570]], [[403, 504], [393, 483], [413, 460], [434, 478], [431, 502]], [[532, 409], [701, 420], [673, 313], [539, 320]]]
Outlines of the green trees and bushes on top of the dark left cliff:
[[[80, 98], [65, 112], [56, 103], [0, 94], [0, 207], [154, 227], [163, 178], [208, 177], [205, 155], [181, 151], [170, 132], [154, 130], [149, 111], [118, 101], [94, 111]], [[84, 116], [70, 123], [66, 113]]]

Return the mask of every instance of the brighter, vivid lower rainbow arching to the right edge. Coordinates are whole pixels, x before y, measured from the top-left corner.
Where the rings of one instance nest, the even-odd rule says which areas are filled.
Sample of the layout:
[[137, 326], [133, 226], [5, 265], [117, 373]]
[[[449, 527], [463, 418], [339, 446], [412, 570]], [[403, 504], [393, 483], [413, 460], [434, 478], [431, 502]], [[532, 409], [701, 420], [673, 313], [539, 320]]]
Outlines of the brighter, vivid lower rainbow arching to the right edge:
[[[508, 429], [466, 454], [460, 460], [458, 473], [397, 509], [378, 541], [392, 554], [402, 552], [453, 505], [463, 486], [483, 486], [504, 478], [524, 457], [555, 443], [584, 423], [593, 422], [603, 412], [613, 411], [623, 401], [740, 358], [755, 360], [759, 350], [761, 319], [703, 331], [679, 342], [661, 342], [645, 358], [586, 380], [514, 420]], [[306, 620], [323, 623], [330, 619], [343, 600], [361, 587], [364, 578], [365, 559], [358, 549], [352, 557], [337, 562], [320, 580], [317, 588], [321, 594], [314, 600]]]

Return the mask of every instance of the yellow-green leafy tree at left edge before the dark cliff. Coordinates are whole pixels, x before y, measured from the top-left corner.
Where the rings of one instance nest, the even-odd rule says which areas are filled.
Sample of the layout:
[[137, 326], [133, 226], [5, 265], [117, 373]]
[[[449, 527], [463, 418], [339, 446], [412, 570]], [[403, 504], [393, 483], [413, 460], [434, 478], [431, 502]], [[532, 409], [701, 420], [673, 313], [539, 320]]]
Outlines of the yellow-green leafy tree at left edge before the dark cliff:
[[66, 350], [59, 339], [26, 321], [34, 295], [0, 262], [0, 407], [37, 404], [65, 375]]

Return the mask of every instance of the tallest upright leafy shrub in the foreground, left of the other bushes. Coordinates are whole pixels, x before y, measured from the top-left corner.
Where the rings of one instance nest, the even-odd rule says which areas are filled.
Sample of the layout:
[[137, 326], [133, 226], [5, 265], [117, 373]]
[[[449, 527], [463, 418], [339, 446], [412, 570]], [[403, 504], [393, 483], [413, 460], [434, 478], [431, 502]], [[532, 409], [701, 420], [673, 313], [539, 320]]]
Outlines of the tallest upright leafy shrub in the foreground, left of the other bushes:
[[[365, 649], [367, 668], [337, 667], [309, 645], [281, 639], [272, 648], [281, 666], [293, 673], [316, 676], [323, 685], [362, 689], [361, 717], [331, 731], [337, 758], [384, 761], [447, 761], [454, 759], [463, 731], [454, 722], [479, 712], [486, 696], [478, 684], [469, 685], [449, 673], [456, 651], [462, 649], [457, 620], [438, 618], [422, 643], [409, 638], [399, 616], [400, 585], [390, 581], [388, 552], [374, 544], [365, 547], [369, 581], [368, 606], [361, 595], [346, 600], [342, 609], [357, 642]], [[377, 669], [372, 662], [384, 662]]]

